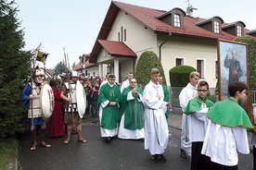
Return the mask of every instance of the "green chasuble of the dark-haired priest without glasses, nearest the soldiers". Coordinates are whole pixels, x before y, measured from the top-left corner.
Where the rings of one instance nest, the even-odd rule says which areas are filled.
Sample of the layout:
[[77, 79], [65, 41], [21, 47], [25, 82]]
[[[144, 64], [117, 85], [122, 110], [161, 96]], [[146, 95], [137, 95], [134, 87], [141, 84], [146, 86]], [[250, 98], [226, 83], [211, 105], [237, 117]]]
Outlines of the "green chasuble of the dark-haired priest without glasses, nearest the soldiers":
[[117, 128], [119, 105], [121, 103], [121, 91], [116, 84], [110, 87], [109, 83], [106, 83], [100, 87], [97, 105], [99, 106], [100, 103], [106, 102], [108, 100], [109, 103], [116, 102], [118, 104], [108, 104], [106, 107], [103, 108], [100, 127], [114, 129]]

